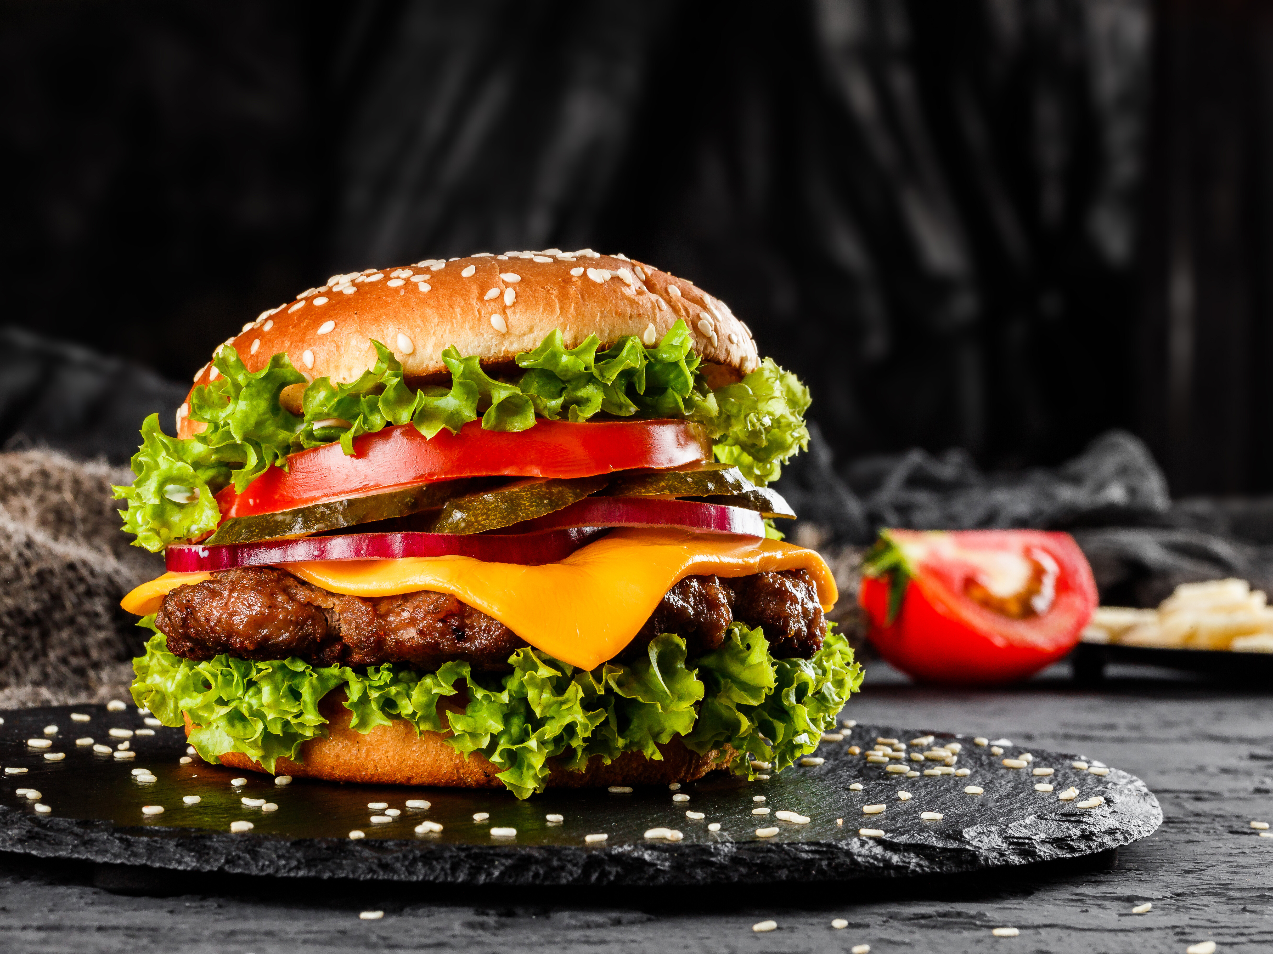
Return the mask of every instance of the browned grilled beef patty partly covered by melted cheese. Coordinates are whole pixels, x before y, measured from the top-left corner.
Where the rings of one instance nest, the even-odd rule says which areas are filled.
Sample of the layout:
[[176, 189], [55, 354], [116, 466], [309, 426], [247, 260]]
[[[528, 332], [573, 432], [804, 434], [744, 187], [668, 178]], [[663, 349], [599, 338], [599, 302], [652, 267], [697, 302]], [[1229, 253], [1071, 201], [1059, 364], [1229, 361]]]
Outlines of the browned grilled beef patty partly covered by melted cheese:
[[[689, 656], [718, 649], [735, 619], [760, 626], [778, 659], [808, 659], [826, 622], [805, 570], [752, 576], [687, 576], [663, 597], [620, 654], [633, 659], [665, 632], [682, 636]], [[155, 625], [168, 651], [201, 661], [299, 656], [314, 665], [405, 663], [421, 670], [458, 659], [479, 672], [507, 670], [527, 645], [517, 633], [447, 593], [342, 597], [274, 567], [222, 570], [164, 597]]]

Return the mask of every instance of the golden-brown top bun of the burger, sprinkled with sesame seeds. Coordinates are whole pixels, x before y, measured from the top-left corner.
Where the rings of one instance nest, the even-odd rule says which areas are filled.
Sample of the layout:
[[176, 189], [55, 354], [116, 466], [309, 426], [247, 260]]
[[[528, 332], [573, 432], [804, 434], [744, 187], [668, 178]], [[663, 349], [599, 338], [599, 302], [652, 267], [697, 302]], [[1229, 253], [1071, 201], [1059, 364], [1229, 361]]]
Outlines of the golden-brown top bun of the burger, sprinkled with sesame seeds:
[[[451, 345], [498, 368], [554, 328], [566, 347], [589, 335], [602, 347], [628, 335], [653, 345], [677, 318], [713, 384], [759, 366], [751, 332], [723, 301], [658, 268], [592, 249], [481, 253], [334, 275], [262, 312], [225, 343], [250, 371], [284, 352], [311, 379], [351, 382], [374, 366], [374, 338], [393, 351], [409, 380], [420, 382], [447, 373], [442, 351]], [[195, 384], [211, 374], [209, 363]]]

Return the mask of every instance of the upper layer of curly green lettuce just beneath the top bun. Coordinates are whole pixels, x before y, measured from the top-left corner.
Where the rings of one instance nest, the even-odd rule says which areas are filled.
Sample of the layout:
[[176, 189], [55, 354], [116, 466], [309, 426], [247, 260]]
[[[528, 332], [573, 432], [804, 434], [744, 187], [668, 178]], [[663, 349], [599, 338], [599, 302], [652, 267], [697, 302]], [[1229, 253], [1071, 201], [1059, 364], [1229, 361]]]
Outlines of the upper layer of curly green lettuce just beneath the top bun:
[[219, 520], [213, 497], [230, 483], [242, 491], [271, 466], [286, 469], [288, 455], [306, 448], [339, 441], [353, 454], [355, 438], [391, 425], [411, 424], [433, 438], [476, 420], [485, 430], [523, 431], [538, 417], [685, 417], [707, 429], [718, 460], [736, 464], [759, 486], [777, 480], [782, 464], [808, 445], [808, 391], [793, 374], [766, 359], [737, 384], [712, 391], [681, 321], [653, 347], [629, 336], [598, 351], [593, 335], [566, 349], [554, 331], [533, 351], [517, 355], [519, 374], [508, 380], [486, 374], [476, 356], [448, 347], [442, 361], [451, 385], [419, 389], [406, 384], [392, 351], [378, 341], [372, 346], [376, 365], [358, 380], [308, 383], [299, 415], [280, 401], [285, 388], [307, 382], [286, 355], [248, 371], [233, 347], [220, 347], [213, 359], [215, 379], [190, 398], [190, 420], [204, 424], [202, 432], [168, 438], [151, 415], [132, 458], [136, 480], [115, 488], [116, 497], [129, 501], [123, 528], [136, 534], [136, 546], [159, 551], [202, 537]]

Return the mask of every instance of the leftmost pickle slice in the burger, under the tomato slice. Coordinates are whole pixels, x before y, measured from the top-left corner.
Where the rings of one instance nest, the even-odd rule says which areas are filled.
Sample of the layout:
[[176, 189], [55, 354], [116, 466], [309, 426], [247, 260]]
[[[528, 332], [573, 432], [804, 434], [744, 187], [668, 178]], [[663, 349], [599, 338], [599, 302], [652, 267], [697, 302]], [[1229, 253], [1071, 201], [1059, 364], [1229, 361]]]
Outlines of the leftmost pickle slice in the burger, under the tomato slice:
[[218, 527], [206, 543], [252, 543], [279, 537], [308, 537], [362, 523], [409, 516], [423, 510], [437, 510], [452, 497], [477, 486], [481, 486], [479, 478], [435, 481], [387, 494], [280, 510], [276, 514], [233, 516]]

